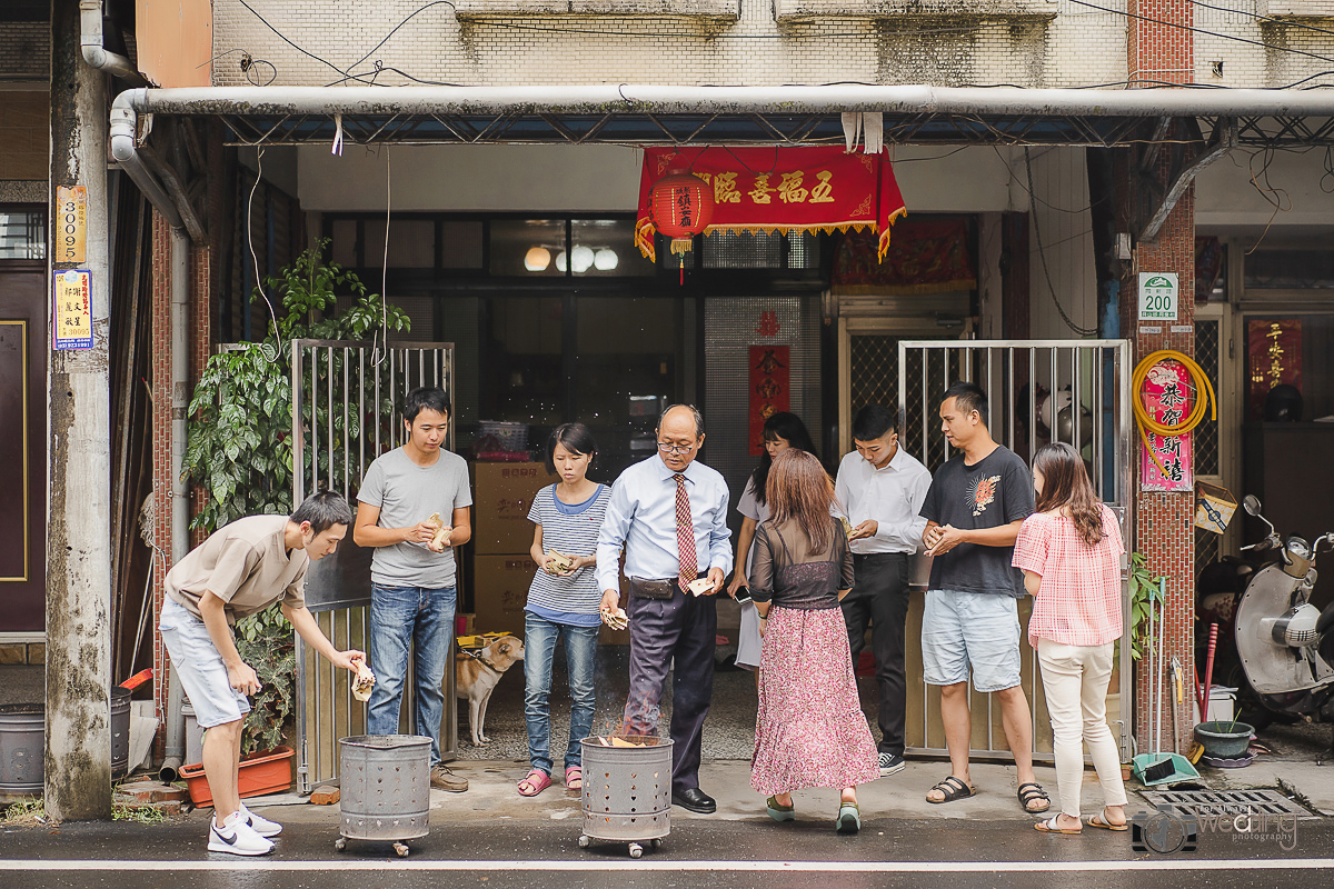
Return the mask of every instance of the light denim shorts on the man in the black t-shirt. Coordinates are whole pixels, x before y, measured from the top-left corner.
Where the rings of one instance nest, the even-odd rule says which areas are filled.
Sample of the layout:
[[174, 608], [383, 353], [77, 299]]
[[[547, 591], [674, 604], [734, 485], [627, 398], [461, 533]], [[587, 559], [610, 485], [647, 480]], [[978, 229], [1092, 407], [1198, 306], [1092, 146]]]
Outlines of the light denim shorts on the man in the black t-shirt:
[[1019, 684], [1019, 606], [1011, 596], [931, 589], [922, 613], [927, 685], [968, 681], [980, 693]]

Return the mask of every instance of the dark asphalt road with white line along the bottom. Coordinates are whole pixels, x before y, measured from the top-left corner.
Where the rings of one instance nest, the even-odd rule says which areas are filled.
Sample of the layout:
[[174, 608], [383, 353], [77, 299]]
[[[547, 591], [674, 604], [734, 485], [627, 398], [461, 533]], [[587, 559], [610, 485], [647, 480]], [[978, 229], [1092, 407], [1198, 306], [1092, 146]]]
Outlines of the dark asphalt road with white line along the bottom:
[[624, 845], [576, 845], [578, 822], [496, 820], [447, 825], [398, 858], [388, 844], [350, 841], [335, 852], [327, 826], [291, 825], [264, 858], [209, 854], [200, 818], [164, 825], [67, 824], [0, 830], [0, 886], [8, 889], [639, 889], [764, 886], [839, 889], [994, 886], [1113, 889], [1329, 885], [1334, 826], [1301, 821], [1290, 850], [1277, 840], [1201, 834], [1195, 852], [1131, 849], [1129, 833], [1086, 829], [1043, 836], [1031, 820], [944, 822], [872, 818], [854, 837], [803, 820], [683, 821], [639, 861]]

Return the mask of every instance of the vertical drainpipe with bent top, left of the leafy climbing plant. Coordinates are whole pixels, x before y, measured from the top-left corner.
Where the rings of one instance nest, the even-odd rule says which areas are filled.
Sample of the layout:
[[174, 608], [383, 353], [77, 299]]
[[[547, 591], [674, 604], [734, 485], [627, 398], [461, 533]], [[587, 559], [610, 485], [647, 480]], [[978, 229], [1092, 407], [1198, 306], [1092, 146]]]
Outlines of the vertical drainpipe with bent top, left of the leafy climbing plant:
[[[189, 235], [176, 209], [180, 201], [173, 201], [168, 196], [135, 151], [135, 121], [136, 115], [128, 105], [112, 108], [111, 156], [171, 225], [171, 558], [172, 564], [176, 564], [189, 550], [188, 489], [183, 477], [185, 408], [189, 404], [189, 361], [184, 348], [189, 343]], [[184, 196], [180, 197], [183, 201]], [[185, 205], [188, 207], [188, 201]], [[164, 781], [175, 781], [179, 777], [185, 757], [183, 702], [180, 678], [176, 670], [171, 670], [167, 686], [167, 757], [159, 772], [159, 777]]]

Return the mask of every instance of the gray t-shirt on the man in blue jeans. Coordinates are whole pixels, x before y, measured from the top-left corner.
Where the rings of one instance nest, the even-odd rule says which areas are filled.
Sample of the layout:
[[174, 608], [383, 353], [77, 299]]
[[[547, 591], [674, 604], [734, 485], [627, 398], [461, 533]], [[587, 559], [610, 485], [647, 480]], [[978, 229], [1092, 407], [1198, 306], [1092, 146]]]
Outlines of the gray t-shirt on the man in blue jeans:
[[[382, 528], [410, 528], [440, 513], [452, 524], [454, 510], [472, 505], [468, 489], [468, 464], [463, 457], [440, 450], [430, 466], [419, 466], [403, 448], [376, 457], [366, 470], [356, 498], [380, 508]], [[382, 586], [427, 586], [443, 589], [455, 585], [454, 549], [434, 553], [426, 544], [376, 546], [371, 557], [371, 580]]]

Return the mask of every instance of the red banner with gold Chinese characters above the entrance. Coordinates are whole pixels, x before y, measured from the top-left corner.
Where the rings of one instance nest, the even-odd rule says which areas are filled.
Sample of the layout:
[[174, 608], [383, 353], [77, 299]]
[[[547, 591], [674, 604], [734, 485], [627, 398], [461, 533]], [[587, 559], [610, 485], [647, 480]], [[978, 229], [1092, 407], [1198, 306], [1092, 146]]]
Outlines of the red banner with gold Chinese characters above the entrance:
[[714, 193], [712, 232], [879, 233], [890, 248], [891, 223], [907, 213], [887, 155], [847, 153], [842, 145], [794, 148], [647, 148], [639, 179], [635, 244], [655, 259], [648, 215], [654, 183], [686, 169]]

